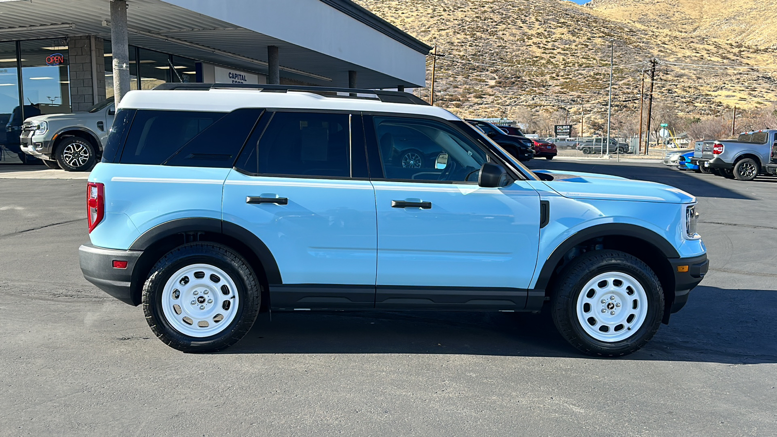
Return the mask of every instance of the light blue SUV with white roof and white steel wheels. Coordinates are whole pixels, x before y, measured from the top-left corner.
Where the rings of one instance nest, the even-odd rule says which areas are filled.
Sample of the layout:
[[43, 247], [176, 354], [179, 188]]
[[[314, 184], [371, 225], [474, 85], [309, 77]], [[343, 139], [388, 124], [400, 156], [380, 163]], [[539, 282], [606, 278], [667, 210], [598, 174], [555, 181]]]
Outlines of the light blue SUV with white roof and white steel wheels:
[[[434, 165], [403, 166], [398, 132], [437, 148]], [[691, 195], [531, 172], [406, 93], [131, 91], [87, 209], [85, 278], [182, 351], [235, 344], [263, 310], [545, 306], [580, 351], [624, 355], [708, 266]]]

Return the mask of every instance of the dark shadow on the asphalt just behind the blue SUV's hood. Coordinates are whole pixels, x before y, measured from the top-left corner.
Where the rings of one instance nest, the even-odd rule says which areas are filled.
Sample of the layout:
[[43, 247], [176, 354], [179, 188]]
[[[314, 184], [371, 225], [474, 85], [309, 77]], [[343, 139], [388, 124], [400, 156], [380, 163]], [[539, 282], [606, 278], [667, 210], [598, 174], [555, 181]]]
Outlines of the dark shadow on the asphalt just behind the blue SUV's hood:
[[[727, 180], [713, 174], [695, 173], [690, 170], [676, 170], [664, 164], [656, 163], [584, 163], [574, 161], [541, 161], [527, 163], [532, 170], [577, 171], [586, 173], [603, 173], [612, 176], [626, 177], [636, 180], [649, 180], [660, 184], [678, 187], [699, 198], [730, 198], [754, 200], [747, 194], [733, 191], [725, 184], [741, 183], [738, 180]], [[660, 167], [659, 167], [660, 166]], [[774, 180], [772, 177], [758, 177], [758, 181]], [[742, 186], [742, 189], [746, 189]]]

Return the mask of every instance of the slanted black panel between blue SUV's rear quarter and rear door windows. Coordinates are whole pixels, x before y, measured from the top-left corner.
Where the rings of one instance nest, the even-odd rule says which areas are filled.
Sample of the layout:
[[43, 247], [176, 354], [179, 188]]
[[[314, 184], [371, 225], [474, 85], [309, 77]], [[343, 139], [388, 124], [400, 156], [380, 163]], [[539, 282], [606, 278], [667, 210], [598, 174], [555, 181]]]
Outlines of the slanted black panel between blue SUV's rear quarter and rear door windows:
[[256, 108], [233, 110], [183, 145], [165, 165], [232, 167], [262, 112]]

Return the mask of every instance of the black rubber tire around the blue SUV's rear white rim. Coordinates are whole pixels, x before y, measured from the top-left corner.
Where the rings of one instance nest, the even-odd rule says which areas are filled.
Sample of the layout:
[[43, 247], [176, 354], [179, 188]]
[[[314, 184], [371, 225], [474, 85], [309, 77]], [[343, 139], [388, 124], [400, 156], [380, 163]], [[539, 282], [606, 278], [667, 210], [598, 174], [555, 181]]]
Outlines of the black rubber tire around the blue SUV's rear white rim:
[[[172, 326], [162, 309], [162, 294], [167, 281], [172, 274], [192, 264], [218, 267], [228, 275], [228, 279], [234, 282], [236, 288], [234, 293], [237, 295], [238, 305], [234, 319], [209, 337], [194, 337], [181, 333]], [[226, 280], [222, 281], [222, 284], [225, 283]], [[221, 288], [216, 288], [214, 293], [219, 289]], [[172, 348], [184, 352], [220, 351], [237, 343], [251, 329], [259, 314], [261, 295], [262, 288], [256, 280], [256, 275], [238, 253], [218, 243], [188, 243], [169, 251], [152, 267], [143, 286], [143, 313], [154, 334]], [[184, 299], [186, 302], [183, 302]], [[184, 299], [181, 299], [182, 306], [188, 304], [188, 296]]]

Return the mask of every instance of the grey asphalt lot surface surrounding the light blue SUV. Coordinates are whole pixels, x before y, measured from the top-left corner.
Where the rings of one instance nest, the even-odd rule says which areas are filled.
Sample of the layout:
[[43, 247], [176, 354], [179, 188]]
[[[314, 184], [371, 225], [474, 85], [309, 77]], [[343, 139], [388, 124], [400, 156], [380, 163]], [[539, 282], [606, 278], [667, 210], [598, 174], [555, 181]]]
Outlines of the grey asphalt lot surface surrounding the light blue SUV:
[[329, 312], [183, 354], [82, 278], [84, 180], [0, 172], [0, 435], [777, 435], [777, 178], [530, 166], [699, 198], [711, 270], [643, 350], [580, 355], [541, 315]]

